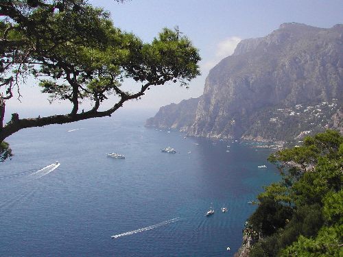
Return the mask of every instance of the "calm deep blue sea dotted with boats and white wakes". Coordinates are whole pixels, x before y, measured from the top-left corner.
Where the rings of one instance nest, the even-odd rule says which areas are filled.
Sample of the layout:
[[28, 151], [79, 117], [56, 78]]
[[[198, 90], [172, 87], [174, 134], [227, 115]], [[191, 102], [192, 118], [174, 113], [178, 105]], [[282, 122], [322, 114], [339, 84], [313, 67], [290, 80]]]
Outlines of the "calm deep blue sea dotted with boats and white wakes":
[[[149, 116], [119, 112], [10, 136], [0, 256], [233, 256], [256, 208], [248, 201], [279, 180], [271, 150], [147, 128]], [[161, 152], [168, 146], [177, 153]]]

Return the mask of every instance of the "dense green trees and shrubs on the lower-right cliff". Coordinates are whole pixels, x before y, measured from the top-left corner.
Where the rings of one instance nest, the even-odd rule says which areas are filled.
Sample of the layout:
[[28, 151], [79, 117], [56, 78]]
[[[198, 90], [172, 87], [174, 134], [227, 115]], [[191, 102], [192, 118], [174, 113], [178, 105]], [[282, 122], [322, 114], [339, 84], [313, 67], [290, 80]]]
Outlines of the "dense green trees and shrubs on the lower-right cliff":
[[340, 256], [343, 230], [343, 136], [327, 130], [272, 154], [282, 181], [265, 187], [245, 234], [249, 256]]

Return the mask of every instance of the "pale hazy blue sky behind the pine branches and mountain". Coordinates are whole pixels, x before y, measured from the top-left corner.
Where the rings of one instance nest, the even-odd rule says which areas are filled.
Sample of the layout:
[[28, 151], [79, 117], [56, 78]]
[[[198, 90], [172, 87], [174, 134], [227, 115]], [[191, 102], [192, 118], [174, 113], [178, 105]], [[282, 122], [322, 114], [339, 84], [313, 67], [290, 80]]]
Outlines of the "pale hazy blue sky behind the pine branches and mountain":
[[[176, 84], [156, 86], [141, 100], [124, 104], [124, 108], [140, 110], [157, 111], [169, 103], [202, 95], [209, 70], [232, 54], [241, 39], [267, 36], [282, 23], [325, 28], [343, 23], [343, 0], [130, 0], [124, 3], [88, 0], [88, 3], [108, 10], [116, 27], [134, 33], [144, 42], [151, 42], [163, 27], [178, 26], [200, 51], [202, 75], [193, 79], [189, 89]], [[21, 102], [8, 101], [7, 114], [21, 110], [24, 116], [38, 117], [38, 114], [71, 110], [68, 103], [49, 105], [47, 95], [41, 94], [35, 85], [34, 80], [27, 79], [21, 86]], [[124, 82], [123, 86], [140, 88], [132, 81]]]

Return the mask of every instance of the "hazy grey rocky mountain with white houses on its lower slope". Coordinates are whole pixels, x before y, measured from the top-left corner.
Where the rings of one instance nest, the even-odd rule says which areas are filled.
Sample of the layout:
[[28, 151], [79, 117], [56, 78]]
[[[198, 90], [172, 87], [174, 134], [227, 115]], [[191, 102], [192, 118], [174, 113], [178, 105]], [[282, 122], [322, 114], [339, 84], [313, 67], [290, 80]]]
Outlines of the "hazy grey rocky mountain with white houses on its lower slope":
[[286, 140], [343, 130], [342, 101], [343, 25], [285, 23], [239, 42], [211, 69], [199, 99], [165, 106], [147, 125], [191, 136]]

